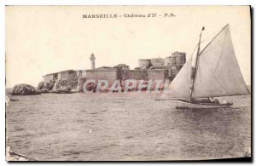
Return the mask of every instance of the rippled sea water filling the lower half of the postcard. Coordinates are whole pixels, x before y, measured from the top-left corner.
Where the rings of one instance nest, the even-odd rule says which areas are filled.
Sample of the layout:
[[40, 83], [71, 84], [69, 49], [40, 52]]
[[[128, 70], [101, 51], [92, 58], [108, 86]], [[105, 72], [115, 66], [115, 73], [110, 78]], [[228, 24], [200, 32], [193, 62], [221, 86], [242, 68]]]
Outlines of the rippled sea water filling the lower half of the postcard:
[[188, 160], [244, 157], [251, 147], [251, 95], [230, 108], [177, 110], [157, 94], [10, 96], [11, 151], [37, 160]]

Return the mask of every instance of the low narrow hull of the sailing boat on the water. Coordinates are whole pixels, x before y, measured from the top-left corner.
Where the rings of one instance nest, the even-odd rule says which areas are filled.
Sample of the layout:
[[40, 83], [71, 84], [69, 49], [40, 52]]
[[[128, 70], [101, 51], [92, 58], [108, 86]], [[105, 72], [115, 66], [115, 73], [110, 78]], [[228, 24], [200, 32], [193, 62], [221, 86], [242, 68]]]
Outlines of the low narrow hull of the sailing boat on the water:
[[231, 103], [191, 103], [178, 101], [176, 108], [177, 109], [212, 109], [212, 108], [225, 108], [232, 106]]

